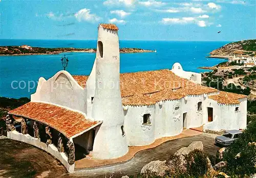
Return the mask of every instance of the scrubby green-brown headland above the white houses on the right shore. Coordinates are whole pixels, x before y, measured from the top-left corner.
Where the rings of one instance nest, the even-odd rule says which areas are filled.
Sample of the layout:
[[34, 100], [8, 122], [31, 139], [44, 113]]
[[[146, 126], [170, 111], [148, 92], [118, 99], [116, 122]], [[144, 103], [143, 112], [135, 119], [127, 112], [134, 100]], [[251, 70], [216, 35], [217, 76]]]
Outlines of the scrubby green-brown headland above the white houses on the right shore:
[[223, 47], [210, 52], [211, 57], [215, 56], [232, 56], [232, 55], [256, 55], [256, 39], [242, 40], [237, 42], [230, 42]]

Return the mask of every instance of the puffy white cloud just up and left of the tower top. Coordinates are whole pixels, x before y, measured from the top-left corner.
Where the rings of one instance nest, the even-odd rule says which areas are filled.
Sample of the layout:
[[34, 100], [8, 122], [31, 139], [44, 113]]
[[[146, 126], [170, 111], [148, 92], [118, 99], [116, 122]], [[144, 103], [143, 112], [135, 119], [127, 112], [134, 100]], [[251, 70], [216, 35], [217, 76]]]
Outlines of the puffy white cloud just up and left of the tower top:
[[99, 21], [101, 18], [96, 14], [91, 14], [90, 9], [81, 9], [77, 13], [75, 13], [75, 17], [78, 21]]

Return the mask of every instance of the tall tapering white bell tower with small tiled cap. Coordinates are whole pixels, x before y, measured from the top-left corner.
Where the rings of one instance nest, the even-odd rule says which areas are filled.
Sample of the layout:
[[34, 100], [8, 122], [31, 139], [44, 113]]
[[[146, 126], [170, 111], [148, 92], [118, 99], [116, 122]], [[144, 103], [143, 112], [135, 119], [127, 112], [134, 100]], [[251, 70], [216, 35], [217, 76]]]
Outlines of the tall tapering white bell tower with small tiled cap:
[[120, 55], [118, 28], [113, 24], [98, 27], [95, 67], [95, 96], [92, 118], [102, 120], [96, 133], [93, 157], [113, 159], [127, 153], [126, 137], [122, 134], [124, 115], [120, 92]]

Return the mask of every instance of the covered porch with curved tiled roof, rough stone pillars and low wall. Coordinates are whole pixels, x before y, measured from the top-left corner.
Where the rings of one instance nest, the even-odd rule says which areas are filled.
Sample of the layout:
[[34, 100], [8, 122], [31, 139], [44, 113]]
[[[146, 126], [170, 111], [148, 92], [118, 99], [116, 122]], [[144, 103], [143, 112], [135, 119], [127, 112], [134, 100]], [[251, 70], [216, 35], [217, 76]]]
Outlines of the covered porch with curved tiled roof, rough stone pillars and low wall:
[[86, 157], [102, 121], [50, 103], [29, 102], [11, 110], [6, 119], [7, 137], [43, 149], [69, 172]]

